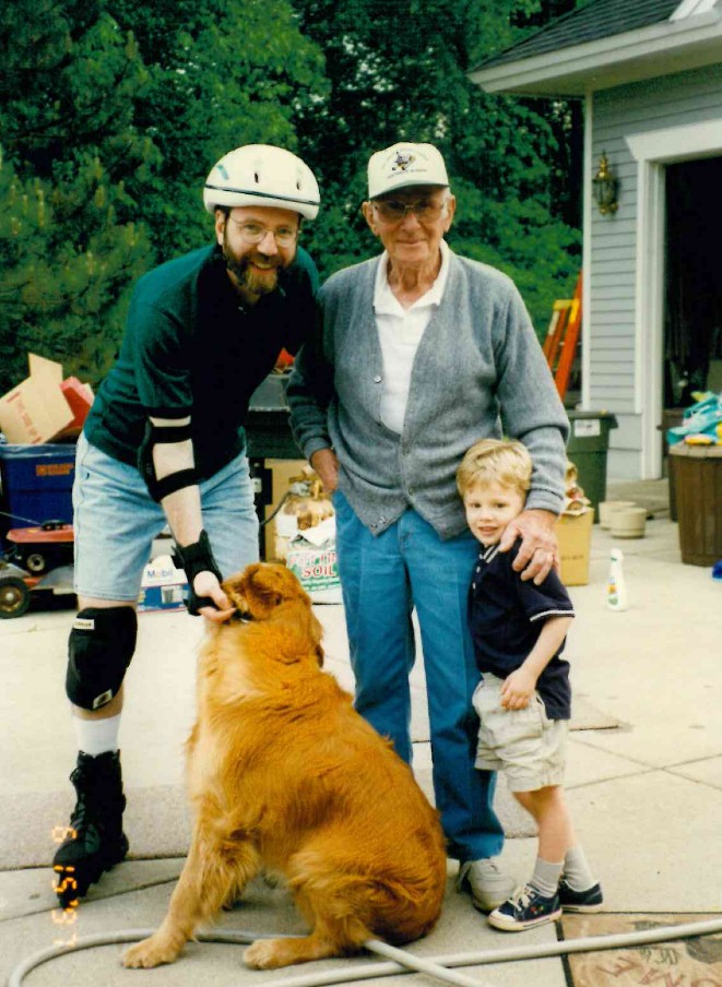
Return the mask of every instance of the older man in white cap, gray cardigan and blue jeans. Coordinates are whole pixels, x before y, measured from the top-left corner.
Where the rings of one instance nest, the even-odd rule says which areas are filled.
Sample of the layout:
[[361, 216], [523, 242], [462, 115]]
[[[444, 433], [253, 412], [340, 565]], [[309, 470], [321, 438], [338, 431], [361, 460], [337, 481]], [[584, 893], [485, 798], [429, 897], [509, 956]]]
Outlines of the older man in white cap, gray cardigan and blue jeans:
[[512, 282], [443, 239], [455, 200], [439, 152], [401, 143], [374, 154], [368, 197], [364, 215], [384, 250], [322, 287], [322, 324], [288, 384], [292, 426], [333, 491], [356, 707], [411, 760], [415, 609], [436, 804], [458, 887], [489, 912], [514, 882], [494, 859], [504, 844], [495, 775], [474, 769], [476, 546], [454, 475], [480, 438], [524, 442], [532, 488], [501, 548], [520, 536], [516, 567], [541, 582], [556, 558], [568, 421]]

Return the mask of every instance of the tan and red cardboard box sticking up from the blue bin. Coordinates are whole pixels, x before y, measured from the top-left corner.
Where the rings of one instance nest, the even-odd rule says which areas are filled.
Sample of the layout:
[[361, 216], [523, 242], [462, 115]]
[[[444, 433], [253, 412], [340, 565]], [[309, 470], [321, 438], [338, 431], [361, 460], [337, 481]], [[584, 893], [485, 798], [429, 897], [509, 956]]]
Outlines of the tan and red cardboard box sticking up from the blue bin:
[[78, 435], [93, 403], [93, 390], [76, 378], [62, 379], [55, 360], [27, 355], [29, 377], [0, 397], [0, 431], [10, 443], [38, 445]]

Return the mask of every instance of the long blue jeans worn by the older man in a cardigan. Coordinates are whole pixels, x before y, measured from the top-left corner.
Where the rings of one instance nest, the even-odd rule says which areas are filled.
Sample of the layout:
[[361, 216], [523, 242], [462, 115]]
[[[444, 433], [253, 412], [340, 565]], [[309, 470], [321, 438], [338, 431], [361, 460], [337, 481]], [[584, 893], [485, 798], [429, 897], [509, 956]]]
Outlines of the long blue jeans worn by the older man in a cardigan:
[[501, 852], [494, 812], [496, 774], [474, 768], [478, 718], [472, 695], [480, 679], [466, 623], [466, 597], [478, 545], [471, 533], [442, 542], [407, 510], [371, 535], [341, 491], [336, 512], [339, 575], [346, 611], [355, 707], [411, 761], [414, 664], [411, 621], [416, 608], [424, 652], [434, 760], [434, 792], [451, 857], [461, 861]]

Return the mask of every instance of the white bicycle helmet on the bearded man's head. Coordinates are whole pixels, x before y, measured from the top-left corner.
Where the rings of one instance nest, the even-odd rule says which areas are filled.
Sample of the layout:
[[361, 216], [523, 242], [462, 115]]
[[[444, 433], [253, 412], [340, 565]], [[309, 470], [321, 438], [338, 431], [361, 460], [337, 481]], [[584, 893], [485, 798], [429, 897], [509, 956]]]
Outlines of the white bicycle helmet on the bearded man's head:
[[318, 182], [308, 165], [271, 144], [230, 151], [211, 169], [203, 189], [210, 213], [218, 205], [267, 205], [315, 219], [319, 201]]

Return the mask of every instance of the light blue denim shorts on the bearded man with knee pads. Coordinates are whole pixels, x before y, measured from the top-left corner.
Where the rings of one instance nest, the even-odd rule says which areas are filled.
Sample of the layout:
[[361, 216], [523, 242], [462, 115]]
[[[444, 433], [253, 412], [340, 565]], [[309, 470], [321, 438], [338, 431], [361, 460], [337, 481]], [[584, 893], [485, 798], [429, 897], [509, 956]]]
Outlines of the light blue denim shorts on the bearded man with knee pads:
[[[259, 558], [259, 522], [248, 460], [236, 456], [200, 484], [203, 527], [224, 578]], [[78, 440], [73, 484], [75, 592], [138, 599], [153, 539], [166, 516], [134, 466]]]

